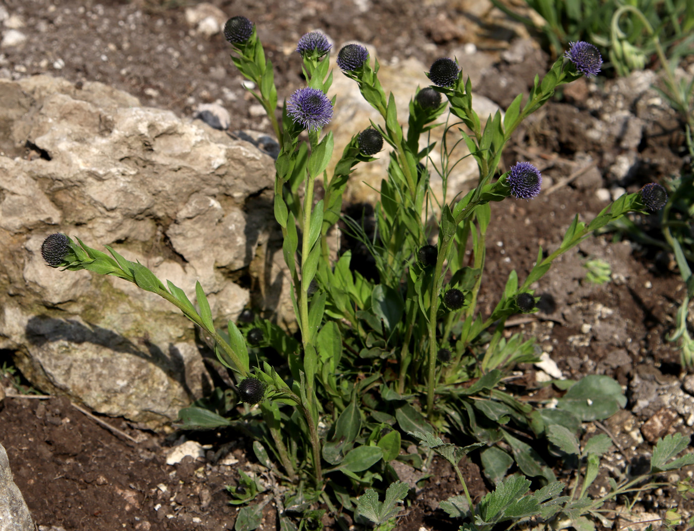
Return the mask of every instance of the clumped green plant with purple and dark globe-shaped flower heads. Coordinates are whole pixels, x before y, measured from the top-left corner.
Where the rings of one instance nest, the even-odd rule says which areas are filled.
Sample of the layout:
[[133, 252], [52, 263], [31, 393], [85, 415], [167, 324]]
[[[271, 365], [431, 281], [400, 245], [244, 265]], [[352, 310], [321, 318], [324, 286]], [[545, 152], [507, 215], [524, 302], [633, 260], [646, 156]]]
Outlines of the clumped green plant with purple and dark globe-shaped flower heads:
[[[133, 282], [169, 300], [212, 338], [214, 351], [235, 376], [239, 401], [246, 406], [241, 413], [227, 408], [213, 412], [198, 403], [181, 411], [182, 426], [235, 426], [254, 437], [255, 455], [267, 473], [292, 485], [285, 494], [278, 494], [280, 490], [273, 494], [282, 528], [296, 529], [297, 519], [300, 528], [320, 521], [315, 504], [322, 502], [336, 515], [356, 511], [380, 529], [391, 529], [398, 503], [408, 490], [398, 482], [392, 463], [423, 467], [420, 455], [401, 453], [420, 439], [458, 472], [457, 462], [465, 453], [480, 451], [490, 482], [502, 484], [514, 462], [526, 476], [550, 482], [553, 487], [533, 498], [533, 514], [544, 515], [542, 507], [561, 492], [541, 457], [542, 447], [555, 442], [546, 436], [560, 426], [573, 437], [583, 421], [609, 417], [626, 399], [618, 383], [607, 376], [562, 384], [566, 394], [552, 409], [514, 398], [505, 390], [504, 378], [516, 363], [536, 360], [536, 349], [533, 340], [523, 341], [518, 334], [506, 339], [505, 320], [535, 310], [532, 286], [557, 256], [627, 212], [656, 209], [663, 194], [647, 187], [623, 195], [589, 222], [577, 215], [557, 249], [546, 255], [539, 249], [525, 278], [511, 272], [491, 314], [480, 313], [477, 294], [483, 281], [486, 231], [493, 218], [491, 203], [509, 196], [532, 200], [541, 192], [540, 172], [530, 162], [518, 162], [508, 171], [500, 168], [505, 143], [559, 85], [584, 74], [596, 75], [600, 55], [591, 44], [572, 44], [566, 58], [559, 58], [543, 78], [536, 76], [525, 101], [519, 94], [503, 116], [497, 112], [482, 120], [473, 110], [469, 78], [464, 78], [455, 60], [439, 59], [427, 74], [432, 86], [412, 95], [405, 129], [393, 95], [384, 92], [378, 79], [378, 60], [372, 62], [364, 46], [347, 44], [337, 53], [337, 65], [357, 83], [380, 119], [353, 136], [328, 175], [333, 139], [331, 132], [323, 134], [323, 128], [332, 120], [339, 94], [327, 96], [332, 73], [325, 35], [307, 33], [298, 42], [307, 86], [289, 96], [281, 116], [276, 114], [272, 65], [255, 26], [245, 17], [234, 17], [224, 35], [233, 48], [232, 61], [257, 87], [252, 94], [266, 110], [280, 143], [274, 214], [284, 237], [298, 336], [260, 318], [239, 321], [238, 326], [230, 321], [225, 331], [219, 330], [199, 283], [196, 308], [171, 281], [162, 284], [144, 265], [126, 260], [108, 245], [110, 255], [78, 238], [75, 242], [53, 234], [42, 247], [46, 263]], [[437, 168], [428, 157], [435, 145], [425, 141], [430, 130], [442, 125], [437, 120], [444, 113], [448, 113], [446, 123], [459, 119], [454, 125], [460, 141], [480, 173], [475, 188], [453, 198], [446, 195], [448, 175], [455, 166], [450, 164], [451, 150], [444, 142], [444, 163]], [[378, 270], [376, 279], [367, 279], [353, 271], [350, 252], [331, 261], [327, 235], [341, 219], [350, 173], [373, 161], [384, 143], [389, 149], [381, 156], [389, 165], [375, 205], [375, 233], [367, 234], [358, 221], [344, 218], [347, 230], [366, 246]], [[442, 197], [430, 189], [430, 171], [437, 171], [443, 180]], [[316, 180], [325, 190], [318, 201]], [[433, 231], [427, 223], [430, 216], [438, 220]], [[282, 363], [272, 365], [277, 354]], [[257, 408], [249, 407], [253, 404]], [[457, 449], [433, 433], [472, 444]], [[540, 442], [531, 448], [518, 433]], [[471, 519], [466, 529], [488, 528], [496, 521], [489, 512], [492, 501], [485, 498], [487, 508], [473, 514], [464, 478], [458, 476]], [[384, 502], [375, 491], [366, 491], [357, 502], [366, 487], [383, 491], [391, 482]], [[525, 480], [523, 486], [527, 489]], [[230, 492], [234, 503], [248, 503], [262, 489], [257, 480], [242, 476], [240, 486]], [[259, 507], [244, 507], [239, 513], [243, 523], [237, 523], [237, 529], [255, 528], [262, 514]], [[517, 521], [527, 518], [527, 511], [505, 515]]]

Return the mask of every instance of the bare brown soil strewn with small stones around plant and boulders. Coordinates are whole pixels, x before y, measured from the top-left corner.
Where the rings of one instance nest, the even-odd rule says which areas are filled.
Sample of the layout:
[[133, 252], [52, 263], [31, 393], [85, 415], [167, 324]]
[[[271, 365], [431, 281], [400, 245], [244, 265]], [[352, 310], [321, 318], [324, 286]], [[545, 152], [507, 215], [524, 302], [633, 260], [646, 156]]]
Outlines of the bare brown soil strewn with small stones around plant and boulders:
[[[479, 34], [473, 37], [455, 24], [441, 23], [437, 15], [447, 6], [458, 5], [455, 2], [367, 2], [370, 9], [366, 14], [358, 12], [357, 3], [338, 0], [212, 3], [229, 16], [246, 15], [255, 21], [276, 66], [281, 94], [290, 94], [302, 83], [298, 55], [285, 51], [293, 50], [298, 37], [314, 28], [322, 28], [337, 44], [352, 39], [373, 44], [382, 61], [414, 56], [425, 64], [448, 55], [452, 47], [464, 42], [477, 42], [480, 48], [503, 49], [509, 41], [509, 35], [501, 35], [496, 26], [480, 27]], [[197, 103], [221, 99], [232, 116], [232, 130], [257, 129], [257, 118], [248, 112], [248, 94], [242, 89], [242, 78], [230, 64], [227, 44], [220, 35], [210, 40], [191, 35], [181, 4], [35, 0], [30, 6], [24, 0], [5, 0], [3, 5], [10, 14], [23, 17], [25, 26], [20, 31], [28, 40], [23, 48], [3, 49], [0, 76], [49, 72], [74, 82], [99, 80], [135, 94], [144, 105], [169, 108], [188, 116]], [[452, 9], [452, 15], [457, 21], [465, 18], [462, 10]], [[480, 37], [482, 34], [484, 37]], [[504, 39], [493, 41], [490, 35]], [[543, 54], [536, 60], [537, 71], [546, 67], [542, 62], [548, 58]], [[515, 75], [514, 80], [521, 87], [532, 82], [532, 76], [525, 78], [527, 69], [506, 74]], [[489, 78], [482, 81], [480, 90], [498, 103], [503, 103], [504, 92], [510, 93]], [[543, 175], [558, 182], [571, 173], [577, 152], [594, 153], [598, 168], [620, 152], [620, 146], [580, 143], [577, 138], [582, 135], [571, 129], [576, 126], [562, 119], [566, 112], [586, 118], [590, 115], [582, 108], [580, 98], [571, 105], [548, 105], [542, 126], [519, 131], [505, 162], [530, 160], [541, 168]], [[661, 124], [658, 130], [672, 132], [677, 130], [677, 124]], [[676, 133], [674, 137], [654, 134], [639, 146], [650, 161], [648, 180], [679, 171], [677, 148], [681, 142], [681, 135]], [[638, 189], [643, 184], [639, 179], [645, 177], [634, 177], [629, 191]], [[532, 202], [509, 200], [493, 204], [494, 223], [487, 236], [489, 271], [480, 294], [483, 313], [489, 313], [496, 304], [511, 269], [515, 268], [521, 278], [527, 275], [536, 259], [537, 245], [555, 248], [577, 211], [583, 219], [590, 219], [604, 207], [595, 198], [595, 189], [613, 183], [602, 177], [598, 181], [586, 185], [577, 181]], [[539, 286], [549, 296], [547, 299], [555, 301], [554, 307], [548, 307], [538, 319], [510, 328], [509, 333], [523, 331], [538, 337], [543, 349], [552, 351], [552, 358], [569, 378], [608, 374], [627, 386], [641, 367], [654, 369], [661, 376], [679, 374], [679, 354], [665, 340], [672, 331], [677, 303], [684, 295], [671, 261], [667, 256], [664, 261], [655, 260], [654, 253], [647, 248], [632, 248], [628, 243], [603, 245], [605, 241], [606, 237], [586, 242], [579, 256], [581, 260], [584, 256], [607, 259], [613, 270], [627, 272], [625, 281], [618, 281], [617, 277], [600, 286], [586, 284], [570, 267], [577, 260], [577, 253], [570, 252], [557, 261], [557, 272], [551, 274], [555, 276], [541, 281]], [[593, 327], [587, 342], [576, 340], [586, 336], [582, 325], [594, 325], [601, 307], [612, 311], [609, 318], [600, 327]], [[527, 382], [533, 384], [532, 367], [527, 369]], [[254, 461], [246, 460], [248, 442], [235, 434], [208, 435], [202, 442], [212, 446], [205, 459], [193, 462], [187, 458], [187, 462], [169, 466], [165, 464], [165, 454], [174, 440], [136, 430], [124, 420], [105, 419], [137, 443], [114, 435], [65, 399], [8, 397], [4, 404], [0, 411], [0, 442], [7, 449], [15, 481], [36, 523], [44, 526], [41, 529], [233, 528], [237, 509], [228, 505], [223, 487], [235, 484], [237, 469], [248, 469]], [[631, 406], [632, 402], [627, 408]], [[636, 416], [633, 420], [641, 426], [647, 419]], [[672, 429], [687, 435], [692, 431], [682, 421]], [[239, 461], [233, 466], [217, 464], [214, 453], [230, 441], [232, 454]], [[652, 446], [643, 442], [627, 451], [629, 459], [638, 460], [648, 455]], [[455, 475], [445, 462], [437, 460], [428, 473], [432, 478], [403, 512], [398, 529], [457, 529], [437, 510], [439, 500], [459, 494]], [[491, 486], [484, 482], [475, 463], [464, 463], [464, 473], [471, 494], [478, 500]], [[663, 502], [671, 496], [672, 490], [661, 491], [649, 502], [650, 508], [658, 507], [658, 500]], [[692, 503], [681, 507], [691, 512]], [[271, 504], [267, 505], [265, 516], [260, 529], [275, 529], [276, 514]], [[326, 519], [326, 523], [331, 524], [332, 520]]]

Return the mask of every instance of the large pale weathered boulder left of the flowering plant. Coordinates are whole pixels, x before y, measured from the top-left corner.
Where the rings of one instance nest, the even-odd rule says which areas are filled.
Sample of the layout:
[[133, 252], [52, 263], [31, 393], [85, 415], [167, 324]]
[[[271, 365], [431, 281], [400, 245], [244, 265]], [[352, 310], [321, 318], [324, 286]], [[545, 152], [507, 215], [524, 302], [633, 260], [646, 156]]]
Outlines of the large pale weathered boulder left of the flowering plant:
[[191, 300], [198, 280], [226, 323], [248, 302], [235, 280], [264, 268], [273, 159], [101, 83], [0, 80], [0, 103], [0, 348], [46, 392], [176, 419], [209, 385], [192, 325], [134, 284], [47, 267], [41, 243], [112, 245]]

